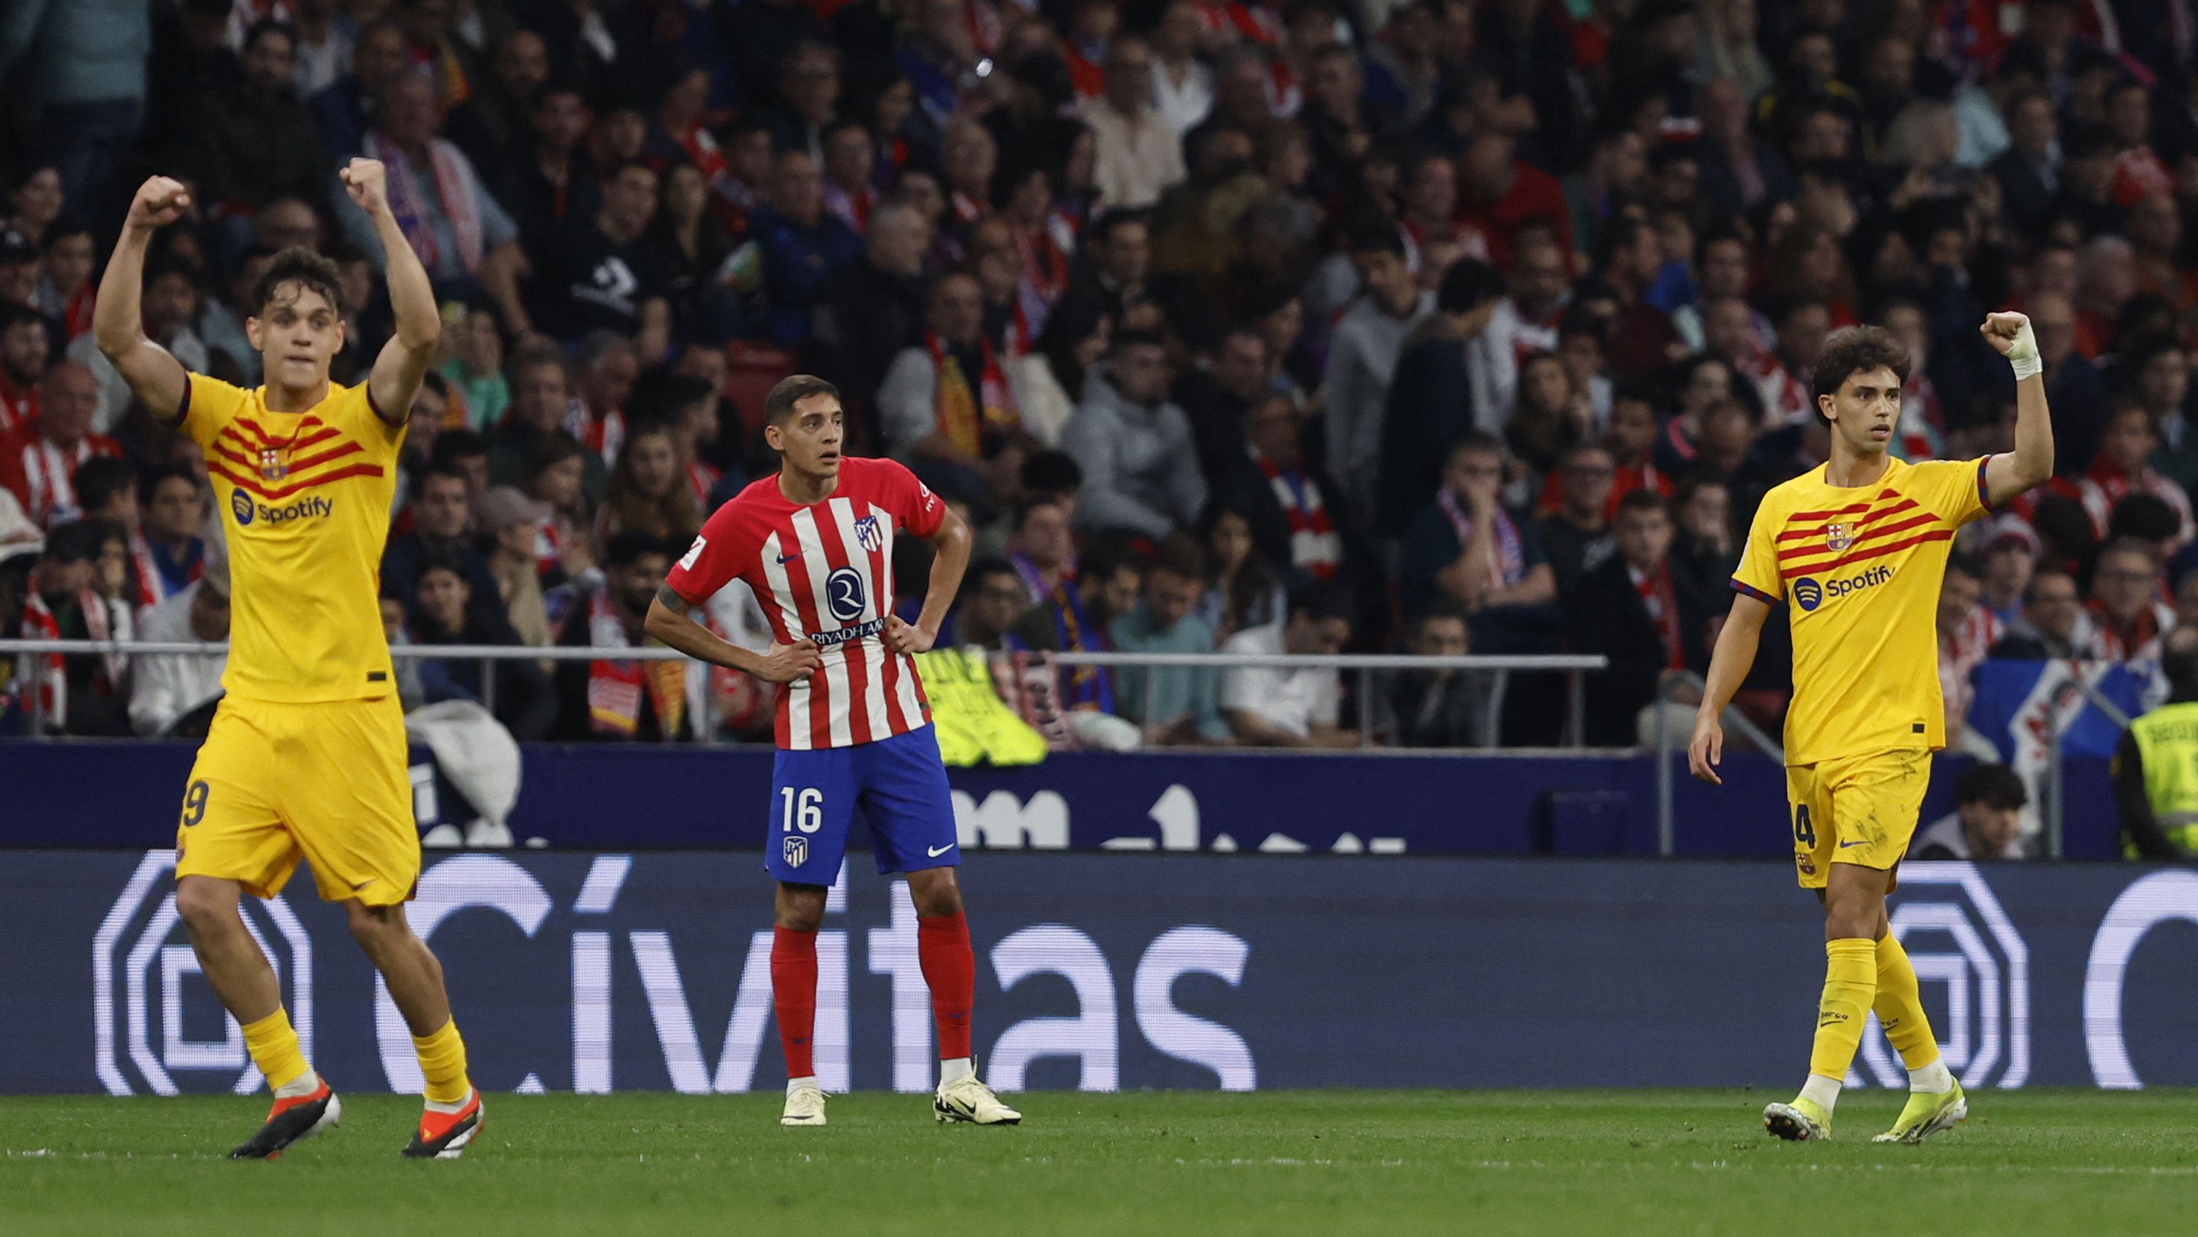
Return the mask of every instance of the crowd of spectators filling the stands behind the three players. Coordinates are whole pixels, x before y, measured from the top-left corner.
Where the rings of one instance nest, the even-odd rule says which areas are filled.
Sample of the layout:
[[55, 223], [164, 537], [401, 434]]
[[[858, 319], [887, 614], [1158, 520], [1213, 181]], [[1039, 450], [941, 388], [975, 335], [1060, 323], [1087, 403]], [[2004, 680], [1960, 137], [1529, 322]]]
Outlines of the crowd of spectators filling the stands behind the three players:
[[[1827, 455], [1811, 367], [1912, 354], [1897, 453], [2009, 448], [2018, 308], [2060, 477], [1950, 571], [1987, 657], [2156, 664], [2198, 624], [2189, 0], [15, 0], [0, 15], [0, 633], [218, 639], [207, 459], [90, 338], [147, 174], [193, 215], [147, 334], [257, 382], [314, 246], [338, 380], [391, 330], [336, 191], [389, 165], [444, 301], [382, 560], [393, 642], [631, 648], [774, 470], [763, 391], [980, 530], [941, 644], [1059, 745], [1547, 743], [1488, 672], [1095, 670], [1057, 650], [1602, 653], [1587, 738], [1692, 710], [1756, 503]], [[903, 549], [921, 551], [921, 545]], [[897, 571], [903, 587], [921, 562]], [[910, 598], [919, 604], [921, 598]], [[761, 646], [745, 589], [712, 626]], [[1741, 707], [1774, 727], [1774, 648]], [[670, 661], [407, 661], [521, 738], [728, 736]], [[4, 721], [202, 725], [218, 659], [18, 659]]]

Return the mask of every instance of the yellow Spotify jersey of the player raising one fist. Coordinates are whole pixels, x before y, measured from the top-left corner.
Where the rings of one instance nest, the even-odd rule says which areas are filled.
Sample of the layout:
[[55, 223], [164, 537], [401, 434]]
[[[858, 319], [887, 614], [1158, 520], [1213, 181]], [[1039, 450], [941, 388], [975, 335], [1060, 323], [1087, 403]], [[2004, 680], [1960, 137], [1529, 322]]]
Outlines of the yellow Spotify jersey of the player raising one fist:
[[1820, 466], [1763, 497], [1732, 587], [1791, 602], [1787, 765], [1945, 747], [1939, 584], [1954, 530], [1985, 503], [1983, 459], [1888, 459], [1851, 488]]

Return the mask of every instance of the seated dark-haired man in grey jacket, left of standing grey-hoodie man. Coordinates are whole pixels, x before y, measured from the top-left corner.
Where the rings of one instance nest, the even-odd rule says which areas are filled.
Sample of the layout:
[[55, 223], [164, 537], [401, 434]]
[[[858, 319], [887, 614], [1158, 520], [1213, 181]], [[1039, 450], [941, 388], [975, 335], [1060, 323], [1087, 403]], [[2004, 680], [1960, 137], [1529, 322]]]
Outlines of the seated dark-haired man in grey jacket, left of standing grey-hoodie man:
[[1154, 334], [1114, 336], [1108, 369], [1088, 382], [1062, 450], [1084, 470], [1081, 527], [1161, 538], [1196, 523], [1207, 505], [1191, 424], [1167, 400], [1167, 354]]

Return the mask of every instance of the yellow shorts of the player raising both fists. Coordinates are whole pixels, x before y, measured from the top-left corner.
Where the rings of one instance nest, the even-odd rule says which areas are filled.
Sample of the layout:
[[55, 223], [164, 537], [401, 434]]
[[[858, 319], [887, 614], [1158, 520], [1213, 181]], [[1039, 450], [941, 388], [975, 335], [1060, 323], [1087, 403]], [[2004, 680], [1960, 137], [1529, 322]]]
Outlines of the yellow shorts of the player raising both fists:
[[191, 765], [176, 877], [275, 896], [297, 861], [325, 901], [391, 905], [420, 881], [396, 696], [284, 705], [226, 696]]

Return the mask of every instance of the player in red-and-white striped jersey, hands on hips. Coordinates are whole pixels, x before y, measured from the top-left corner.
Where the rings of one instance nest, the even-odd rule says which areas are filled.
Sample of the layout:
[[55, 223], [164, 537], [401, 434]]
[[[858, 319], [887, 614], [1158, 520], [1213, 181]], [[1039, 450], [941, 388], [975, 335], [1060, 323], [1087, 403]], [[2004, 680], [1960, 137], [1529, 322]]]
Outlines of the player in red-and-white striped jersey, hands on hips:
[[[848, 813], [870, 822], [877, 870], [906, 872], [917, 903], [917, 960], [939, 1030], [941, 1121], [1015, 1125], [1022, 1114], [978, 1081], [969, 1055], [976, 956], [954, 868], [954, 804], [917, 664], [969, 567], [969, 525], [890, 459], [844, 459], [840, 391], [796, 374], [763, 404], [776, 477], [741, 490], [703, 525], [657, 600], [648, 633], [712, 666], [782, 683], [765, 868], [778, 879], [771, 1002], [787, 1055], [780, 1125], [824, 1125], [811, 1030], [818, 925], [846, 850]], [[892, 613], [892, 538], [930, 541], [923, 613]], [[688, 617], [728, 580], [745, 580], [771, 620], [769, 653], [725, 644]]]

